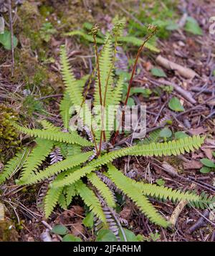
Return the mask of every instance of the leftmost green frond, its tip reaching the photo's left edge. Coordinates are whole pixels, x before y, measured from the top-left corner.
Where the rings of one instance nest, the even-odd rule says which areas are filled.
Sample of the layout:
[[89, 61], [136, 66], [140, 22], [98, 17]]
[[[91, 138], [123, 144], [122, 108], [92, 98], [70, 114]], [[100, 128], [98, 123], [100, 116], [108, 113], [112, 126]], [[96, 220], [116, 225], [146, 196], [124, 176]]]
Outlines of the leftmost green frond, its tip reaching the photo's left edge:
[[25, 148], [24, 151], [16, 153], [16, 156], [11, 158], [4, 167], [4, 170], [0, 174], [0, 184], [2, 184], [6, 179], [16, 174], [19, 169], [22, 168], [24, 161], [29, 154], [29, 149]]

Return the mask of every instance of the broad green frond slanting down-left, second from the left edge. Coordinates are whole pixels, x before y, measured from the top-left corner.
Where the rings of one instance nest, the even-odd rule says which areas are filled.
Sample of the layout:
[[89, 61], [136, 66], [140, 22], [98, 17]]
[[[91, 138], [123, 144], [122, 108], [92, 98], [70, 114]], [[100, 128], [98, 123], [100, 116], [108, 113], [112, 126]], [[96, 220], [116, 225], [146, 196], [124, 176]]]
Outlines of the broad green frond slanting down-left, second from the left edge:
[[31, 153], [29, 153], [27, 161], [25, 161], [23, 165], [20, 180], [26, 180], [29, 176], [34, 174], [34, 171], [37, 171], [41, 163], [52, 151], [53, 141], [37, 138], [35, 142], [37, 143], [37, 146], [32, 149]]

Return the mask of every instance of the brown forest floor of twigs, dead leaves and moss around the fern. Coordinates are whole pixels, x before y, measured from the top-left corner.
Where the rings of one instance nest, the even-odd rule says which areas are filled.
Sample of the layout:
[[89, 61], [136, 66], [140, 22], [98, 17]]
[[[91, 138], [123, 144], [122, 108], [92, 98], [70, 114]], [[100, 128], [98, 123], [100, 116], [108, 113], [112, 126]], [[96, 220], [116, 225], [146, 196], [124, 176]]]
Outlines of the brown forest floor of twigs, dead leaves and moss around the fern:
[[[200, 170], [202, 158], [215, 159], [215, 34], [209, 32], [209, 19], [215, 16], [215, 4], [200, 0], [165, 0], [159, 1], [160, 4], [136, 0], [117, 1], [118, 4], [111, 0], [16, 2], [11, 14], [18, 44], [14, 47], [14, 54], [0, 47], [0, 104], [12, 108], [19, 116], [19, 123], [34, 128], [38, 119], [47, 119], [55, 125], [62, 125], [59, 119], [59, 100], [64, 90], [59, 73], [59, 48], [62, 44], [67, 46], [77, 78], [92, 70], [95, 62], [92, 43], [79, 36], [65, 36], [65, 32], [82, 29], [84, 22], [96, 22], [105, 32], [118, 14], [127, 20], [126, 32], [141, 39], [146, 24], [156, 21], [158, 34], [151, 42], [156, 41], [159, 52], [143, 50], [133, 80], [133, 87], [148, 90], [144, 90], [146, 94], [133, 93], [130, 100], [136, 105], [147, 106], [148, 131], [162, 129], [163, 122], [169, 120], [166, 132], [170, 131], [171, 136], [183, 131], [188, 135], [206, 136], [206, 141], [199, 151], [183, 156], [141, 157], [138, 160], [123, 157], [115, 164], [122, 170], [133, 171], [136, 177], [149, 183], [214, 195], [213, 169], [206, 173]], [[10, 30], [7, 6], [0, 4], [0, 12], [6, 21], [6, 29]], [[194, 23], [190, 24], [193, 32], [188, 32], [188, 16], [197, 23], [193, 20]], [[171, 22], [165, 23], [167, 20]], [[179, 26], [174, 27], [174, 24]], [[125, 44], [119, 69], [128, 73], [132, 70], [138, 47]], [[167, 70], [158, 64], [158, 55], [190, 70]], [[173, 97], [180, 100], [184, 108], [182, 112], [169, 108]], [[18, 139], [22, 146], [30, 143], [27, 136]], [[4, 138], [0, 137], [0, 143], [3, 141]], [[118, 145], [129, 142], [123, 136], [116, 141]], [[16, 151], [16, 148], [2, 147], [0, 171]], [[65, 225], [82, 240], [95, 239], [94, 234], [82, 225], [85, 208], [79, 199], [72, 202], [69, 210], [55, 208], [49, 219], [44, 219], [43, 212], [37, 207], [44, 184], [22, 188], [14, 185], [14, 179], [0, 186], [0, 203], [4, 204], [6, 218], [4, 223], [0, 219], [0, 240], [42, 241], [42, 233], [55, 224]], [[152, 200], [166, 217], [177, 216], [179, 212], [175, 216], [176, 224], [172, 229], [151, 224], [135, 204], [126, 199], [119, 214], [135, 234], [143, 234], [149, 241], [215, 241], [213, 210], [188, 207], [187, 202], [173, 204]], [[52, 234], [51, 239], [61, 240], [56, 234]]]

